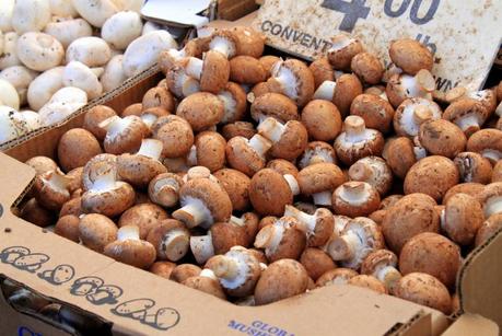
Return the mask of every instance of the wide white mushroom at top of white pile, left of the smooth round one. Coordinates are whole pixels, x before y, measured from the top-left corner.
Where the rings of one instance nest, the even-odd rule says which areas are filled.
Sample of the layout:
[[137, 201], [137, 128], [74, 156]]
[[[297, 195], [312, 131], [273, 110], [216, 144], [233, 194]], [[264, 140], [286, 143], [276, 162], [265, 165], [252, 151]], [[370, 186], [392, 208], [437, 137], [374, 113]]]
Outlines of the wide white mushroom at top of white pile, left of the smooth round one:
[[92, 36], [91, 25], [83, 19], [52, 18], [44, 32], [52, 35], [67, 48], [73, 40], [80, 37]]

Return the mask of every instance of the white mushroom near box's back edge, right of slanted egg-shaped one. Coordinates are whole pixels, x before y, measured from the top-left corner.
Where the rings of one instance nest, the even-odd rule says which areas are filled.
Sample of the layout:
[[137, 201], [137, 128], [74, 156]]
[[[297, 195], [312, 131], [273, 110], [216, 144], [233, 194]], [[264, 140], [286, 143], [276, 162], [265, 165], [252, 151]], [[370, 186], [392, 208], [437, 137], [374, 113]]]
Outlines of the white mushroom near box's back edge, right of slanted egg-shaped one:
[[98, 97], [103, 93], [103, 85], [97, 76], [80, 61], [71, 61], [65, 67], [62, 83], [65, 86], [82, 89], [87, 94], [89, 100]]

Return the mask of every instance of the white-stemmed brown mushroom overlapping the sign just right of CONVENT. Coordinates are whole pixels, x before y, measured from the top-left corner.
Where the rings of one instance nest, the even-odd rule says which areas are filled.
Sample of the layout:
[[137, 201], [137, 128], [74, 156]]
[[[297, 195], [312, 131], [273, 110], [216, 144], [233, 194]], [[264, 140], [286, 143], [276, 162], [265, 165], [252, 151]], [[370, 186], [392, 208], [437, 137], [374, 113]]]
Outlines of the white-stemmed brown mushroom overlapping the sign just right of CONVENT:
[[359, 39], [345, 34], [334, 36], [331, 43], [332, 46], [328, 50], [327, 57], [336, 70], [349, 70], [352, 57], [364, 50]]

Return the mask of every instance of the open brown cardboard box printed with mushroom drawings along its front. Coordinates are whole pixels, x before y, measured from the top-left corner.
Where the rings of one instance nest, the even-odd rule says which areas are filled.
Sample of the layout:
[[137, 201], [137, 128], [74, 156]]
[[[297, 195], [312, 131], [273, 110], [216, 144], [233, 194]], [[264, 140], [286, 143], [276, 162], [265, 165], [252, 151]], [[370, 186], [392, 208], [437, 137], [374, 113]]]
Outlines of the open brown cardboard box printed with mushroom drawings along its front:
[[[89, 107], [106, 104], [121, 111], [139, 102], [161, 78], [155, 68], [150, 69]], [[448, 326], [451, 317], [437, 311], [350, 286], [320, 288], [265, 306], [236, 306], [117, 263], [15, 217], [11, 208], [34, 177], [34, 171], [22, 162], [34, 155], [54, 158], [58, 139], [68, 129], [81, 126], [84, 113], [0, 154], [1, 276], [101, 316], [112, 324], [116, 335], [439, 335], [444, 331], [450, 335], [498, 334], [495, 323], [477, 314], [502, 325], [502, 263], [498, 260], [502, 234], [466, 259], [458, 277], [464, 314]], [[79, 283], [87, 277], [116, 286], [120, 293], [91, 300], [100, 288], [83, 293]], [[65, 331], [14, 311], [4, 300], [0, 300], [0, 325], [5, 335], [22, 328], [30, 329], [28, 335], [66, 335]]]

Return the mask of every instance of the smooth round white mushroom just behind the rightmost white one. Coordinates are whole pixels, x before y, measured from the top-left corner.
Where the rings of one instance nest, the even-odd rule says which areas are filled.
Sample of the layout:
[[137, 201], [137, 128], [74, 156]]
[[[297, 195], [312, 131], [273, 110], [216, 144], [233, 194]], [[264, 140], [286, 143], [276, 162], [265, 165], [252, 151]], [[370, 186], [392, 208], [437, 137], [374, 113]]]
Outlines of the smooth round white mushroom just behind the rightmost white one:
[[118, 12], [106, 20], [101, 36], [113, 48], [126, 49], [127, 46], [141, 35], [143, 24], [137, 12]]

